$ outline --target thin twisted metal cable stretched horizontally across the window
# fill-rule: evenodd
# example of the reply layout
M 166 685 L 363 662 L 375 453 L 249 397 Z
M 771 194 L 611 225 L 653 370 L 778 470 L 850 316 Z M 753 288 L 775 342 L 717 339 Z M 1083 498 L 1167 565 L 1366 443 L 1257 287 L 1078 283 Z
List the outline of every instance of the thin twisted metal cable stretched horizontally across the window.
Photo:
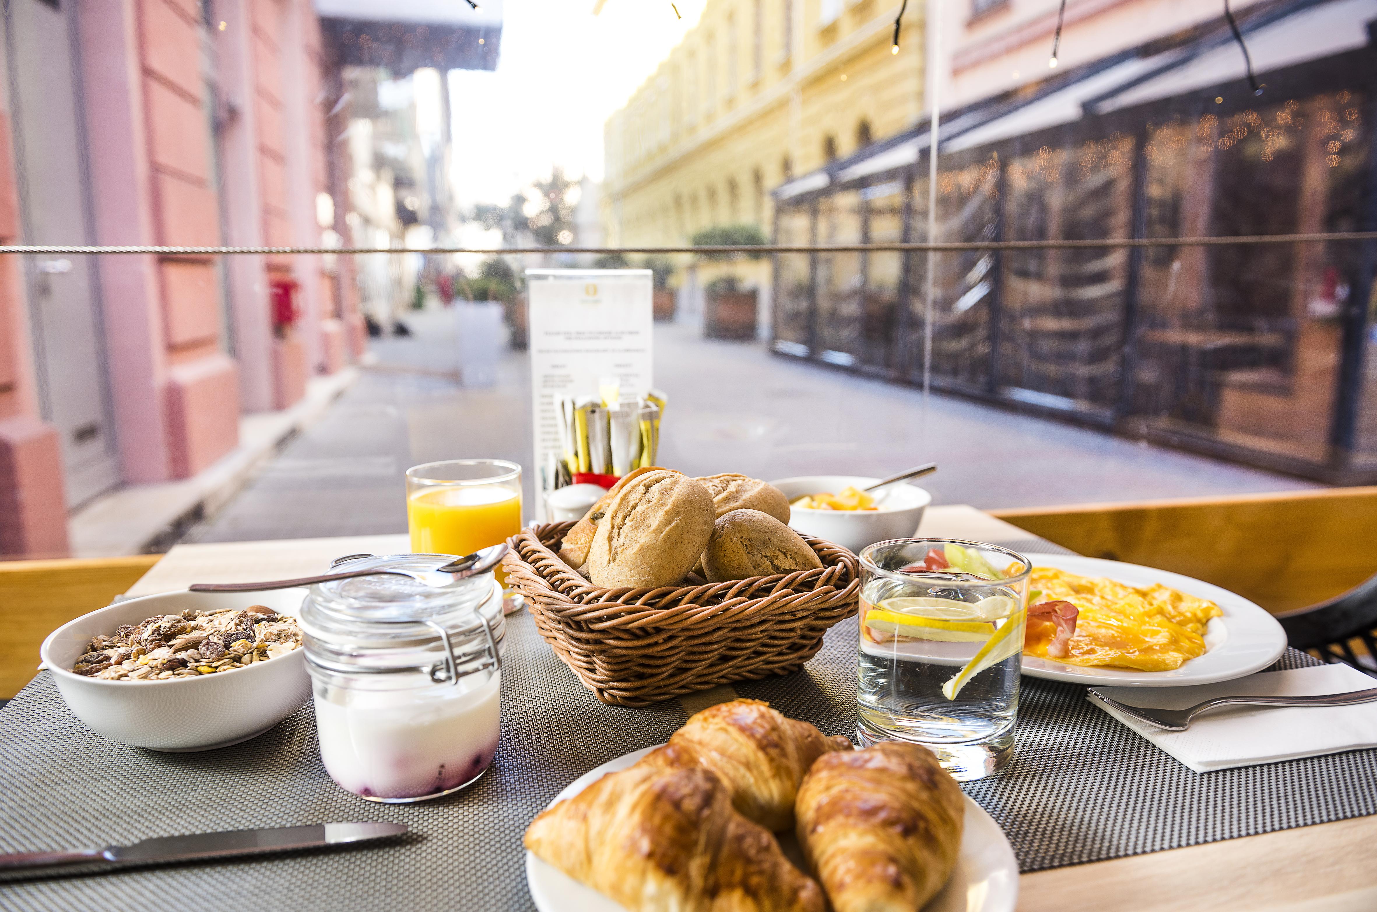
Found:
M 950 241 L 940 243 L 759 243 L 738 246 L 625 246 L 625 248 L 190 248 L 190 246 L 102 246 L 102 245 L 0 245 L 0 253 L 22 253 L 30 256 L 105 256 L 105 254 L 153 254 L 153 256 L 282 256 L 347 253 L 355 256 L 377 253 L 476 253 L 479 256 L 508 256 L 518 253 L 697 253 L 701 256 L 722 254 L 767 254 L 767 253 L 869 253 L 884 250 L 932 250 L 935 253 L 956 253 L 961 250 L 1078 250 L 1117 248 L 1191 248 L 1228 246 L 1253 243 L 1316 243 L 1333 241 L 1377 241 L 1377 231 L 1332 231 L 1312 234 L 1250 234 L 1237 237 L 1199 238 L 1120 238 L 1092 241 Z

